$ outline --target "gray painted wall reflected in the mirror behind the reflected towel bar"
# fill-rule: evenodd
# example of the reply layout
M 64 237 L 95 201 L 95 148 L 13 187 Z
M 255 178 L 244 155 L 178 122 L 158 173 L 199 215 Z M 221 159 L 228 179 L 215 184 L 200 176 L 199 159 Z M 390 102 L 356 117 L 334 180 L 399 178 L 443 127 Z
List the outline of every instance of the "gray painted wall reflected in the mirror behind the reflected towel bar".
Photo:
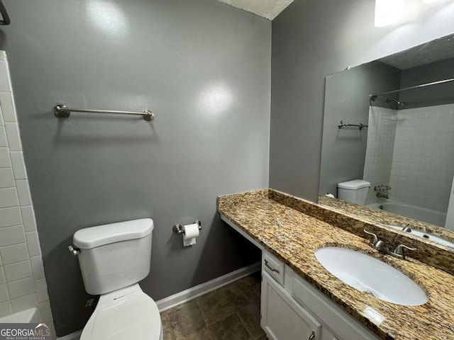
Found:
M 337 183 L 362 179 L 367 128 L 338 128 L 338 123 L 367 125 L 370 94 L 399 89 L 401 72 L 382 62 L 368 62 L 326 77 L 320 191 L 337 197 Z M 378 106 L 388 107 L 377 98 Z

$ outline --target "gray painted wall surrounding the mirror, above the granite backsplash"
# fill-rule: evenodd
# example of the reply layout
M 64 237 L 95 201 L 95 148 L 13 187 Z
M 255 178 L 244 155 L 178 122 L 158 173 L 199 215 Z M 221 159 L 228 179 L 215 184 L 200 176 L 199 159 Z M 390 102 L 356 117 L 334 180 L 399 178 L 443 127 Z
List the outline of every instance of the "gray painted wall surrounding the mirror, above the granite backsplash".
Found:
M 295 0 L 275 18 L 270 187 L 316 201 L 328 74 L 454 32 L 452 2 L 406 6 L 411 17 L 384 28 L 374 26 L 374 0 Z

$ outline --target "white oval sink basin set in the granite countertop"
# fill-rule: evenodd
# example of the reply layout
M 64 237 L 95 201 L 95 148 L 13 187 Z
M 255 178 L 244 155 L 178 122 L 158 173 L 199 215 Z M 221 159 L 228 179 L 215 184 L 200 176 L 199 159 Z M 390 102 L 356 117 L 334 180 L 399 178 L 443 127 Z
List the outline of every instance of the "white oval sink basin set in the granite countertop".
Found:
M 317 249 L 315 257 L 339 280 L 381 300 L 405 306 L 423 305 L 428 300 L 404 273 L 359 251 L 326 246 Z

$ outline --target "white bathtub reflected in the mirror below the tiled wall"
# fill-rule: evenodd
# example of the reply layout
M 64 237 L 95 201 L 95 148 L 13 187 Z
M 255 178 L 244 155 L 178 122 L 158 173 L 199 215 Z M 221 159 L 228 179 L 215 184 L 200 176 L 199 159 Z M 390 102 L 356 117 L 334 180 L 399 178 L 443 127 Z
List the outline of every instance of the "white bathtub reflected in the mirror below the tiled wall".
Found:
M 367 205 L 367 207 L 373 209 L 381 209 L 396 215 L 410 217 L 414 220 L 428 222 L 440 227 L 444 227 L 446 221 L 445 212 L 421 208 L 416 205 L 387 201 L 384 203 L 372 203 L 370 205 Z

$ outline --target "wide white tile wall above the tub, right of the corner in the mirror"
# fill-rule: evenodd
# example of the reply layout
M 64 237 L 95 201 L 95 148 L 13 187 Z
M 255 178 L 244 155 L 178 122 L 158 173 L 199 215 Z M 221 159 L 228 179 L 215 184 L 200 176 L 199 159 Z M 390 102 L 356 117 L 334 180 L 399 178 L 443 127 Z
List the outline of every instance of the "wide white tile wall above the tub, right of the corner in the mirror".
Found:
M 397 117 L 393 198 L 445 212 L 454 174 L 454 104 L 401 110 Z

